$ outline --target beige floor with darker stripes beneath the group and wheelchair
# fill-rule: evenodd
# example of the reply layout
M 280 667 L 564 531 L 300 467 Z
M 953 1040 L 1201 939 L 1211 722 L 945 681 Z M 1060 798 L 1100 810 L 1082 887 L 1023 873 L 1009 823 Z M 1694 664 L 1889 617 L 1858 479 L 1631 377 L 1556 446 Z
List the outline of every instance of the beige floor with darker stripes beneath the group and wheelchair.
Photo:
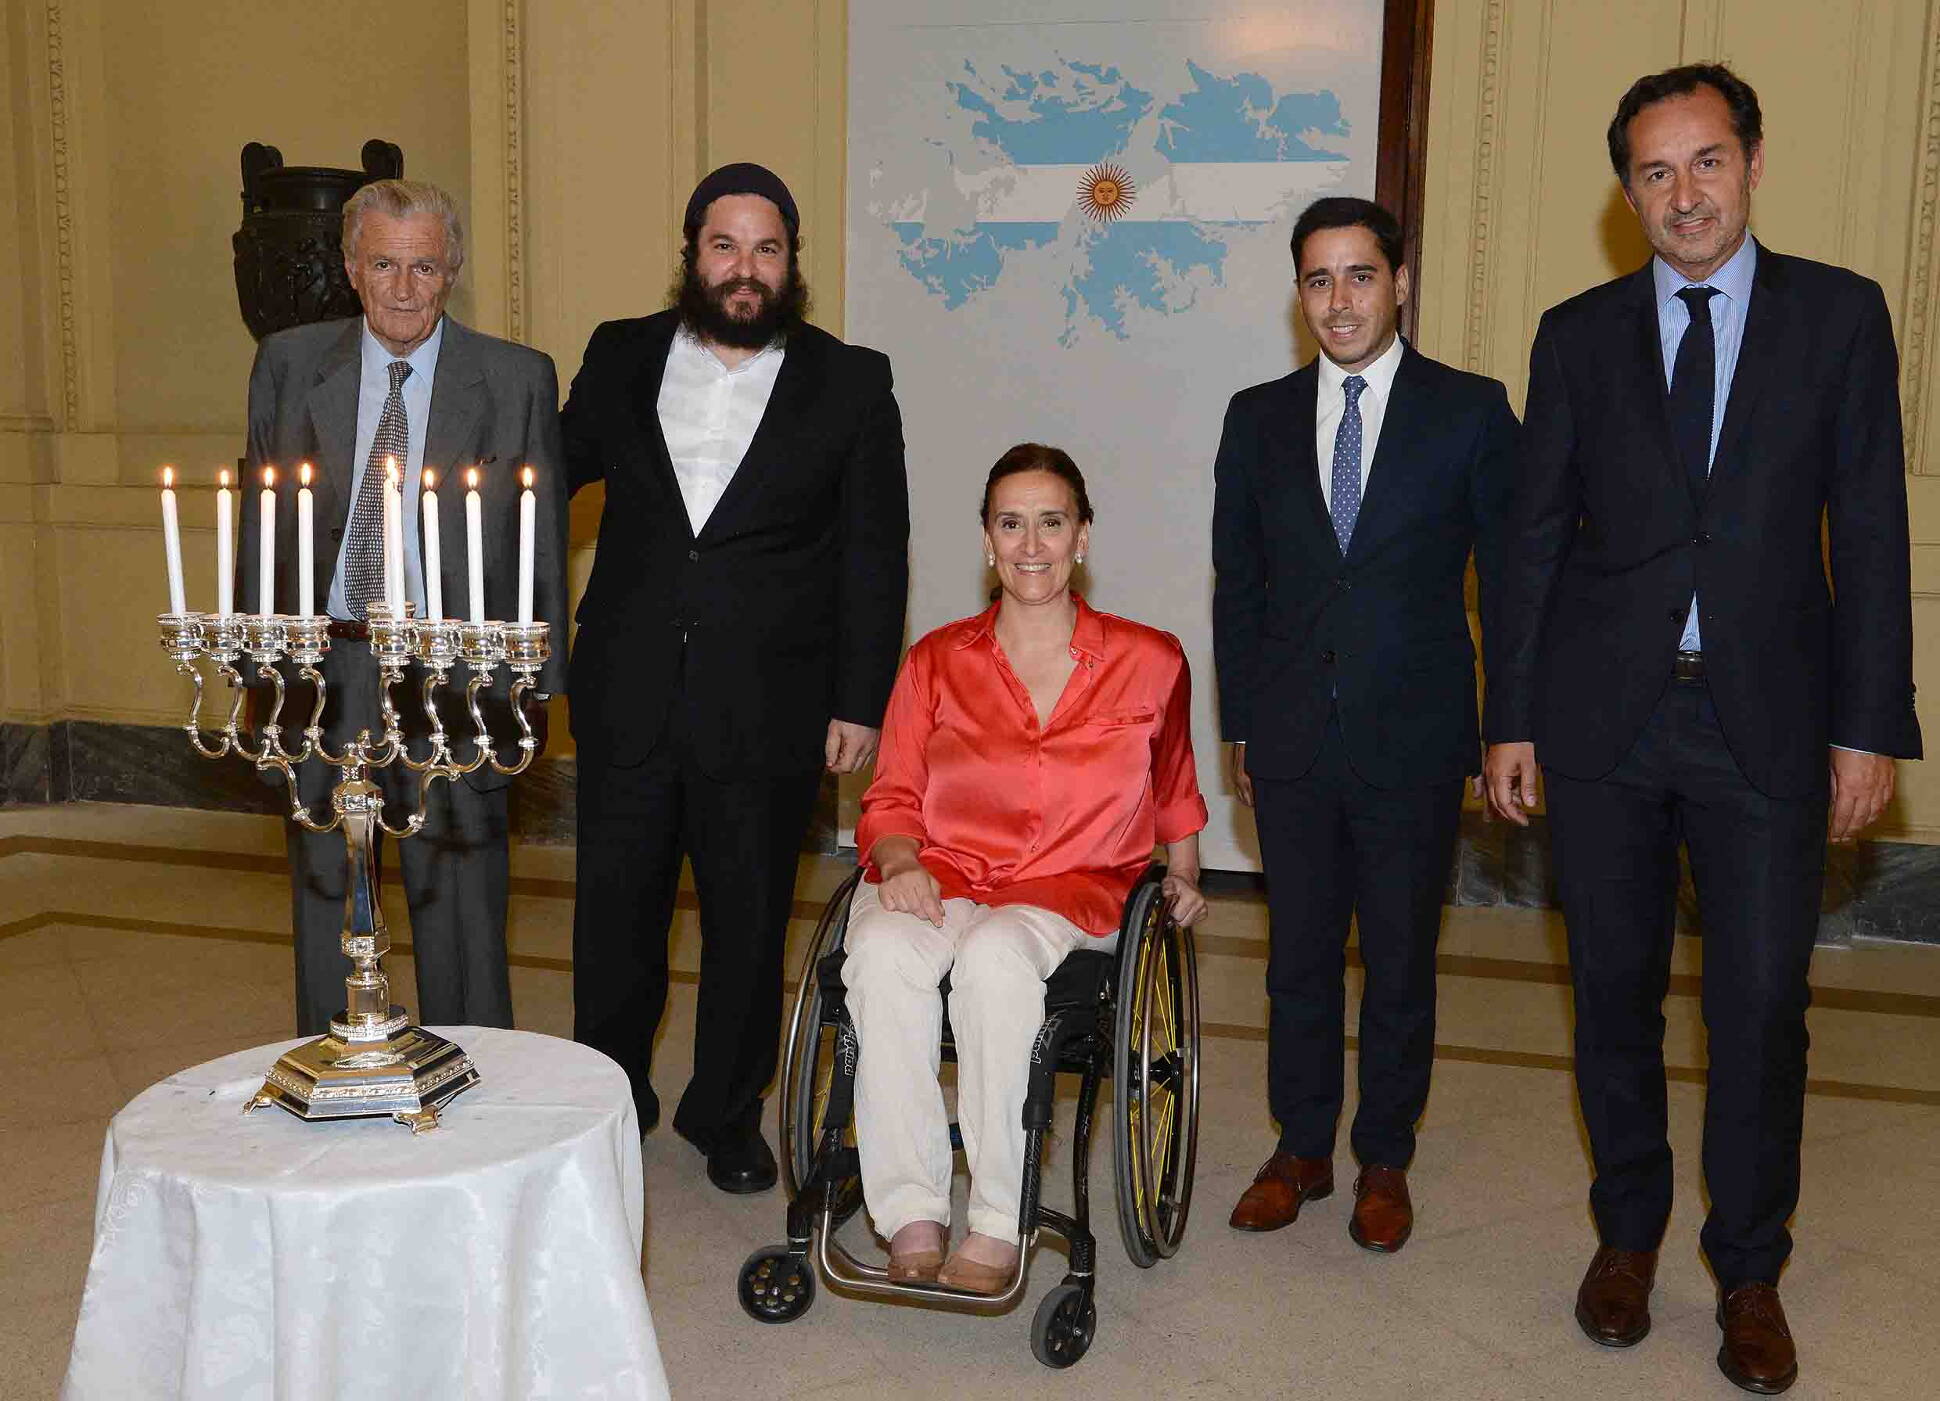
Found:
M 140 807 L 0 813 L 0 1393 L 48 1397 L 87 1267 L 107 1120 L 169 1071 L 289 1032 L 283 838 L 254 817 Z M 512 906 L 520 1025 L 568 1034 L 570 852 L 520 850 Z M 809 860 L 799 896 L 842 875 Z M 394 891 L 394 887 L 392 887 Z M 407 939 L 402 898 L 388 910 Z M 805 924 L 797 922 L 797 933 Z M 1684 974 L 1698 970 L 1682 941 Z M 677 1397 L 1732 1397 L 1715 1366 L 1698 1257 L 1701 1089 L 1672 1085 L 1678 1205 L 1641 1347 L 1604 1352 L 1569 1320 L 1591 1250 L 1585 1157 L 1568 1073 L 1569 1003 L 1552 916 L 1455 910 L 1443 937 L 1439 1059 L 1412 1174 L 1418 1226 L 1377 1257 L 1346 1238 L 1346 1193 L 1290 1230 L 1242 1236 L 1226 1211 L 1271 1147 L 1261 1102 L 1265 918 L 1218 900 L 1201 945 L 1205 1116 L 1181 1254 L 1133 1269 L 1100 1189 L 1098 1341 L 1067 1374 L 1030 1358 L 1040 1257 L 1003 1318 L 823 1292 L 788 1327 L 733 1304 L 735 1265 L 778 1240 L 782 1201 L 724 1197 L 667 1131 L 646 1141 L 646 1281 Z M 695 966 L 691 910 L 675 962 Z M 409 1001 L 411 962 L 392 961 Z M 1798 1254 L 1785 1300 L 1798 1397 L 1917 1397 L 1940 1370 L 1940 949 L 1826 949 L 1814 966 Z M 1352 988 L 1350 988 L 1352 995 Z M 1668 1058 L 1703 1063 L 1696 997 L 1666 1005 Z M 693 986 L 675 990 L 662 1083 L 685 1077 Z M 1352 1073 L 1352 1067 L 1350 1067 Z M 770 1125 L 772 1131 L 772 1125 Z M 1051 1201 L 1069 1191 L 1053 1145 Z M 1350 1162 L 1342 1151 L 1341 1172 Z M 856 1232 L 856 1226 L 850 1228 Z

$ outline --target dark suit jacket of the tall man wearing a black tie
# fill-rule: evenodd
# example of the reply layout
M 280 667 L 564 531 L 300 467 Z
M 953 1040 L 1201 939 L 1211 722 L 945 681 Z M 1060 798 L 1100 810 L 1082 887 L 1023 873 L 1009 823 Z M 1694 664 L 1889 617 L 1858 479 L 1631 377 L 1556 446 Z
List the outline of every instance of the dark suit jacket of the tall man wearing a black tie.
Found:
M 1827 743 L 1917 759 L 1899 363 L 1878 283 L 1758 250 L 1701 491 L 1670 437 L 1651 268 L 1544 312 L 1504 574 L 1488 737 L 1533 739 L 1546 768 L 1600 778 L 1630 751 L 1692 590 L 1719 724 L 1760 792 L 1824 790 Z

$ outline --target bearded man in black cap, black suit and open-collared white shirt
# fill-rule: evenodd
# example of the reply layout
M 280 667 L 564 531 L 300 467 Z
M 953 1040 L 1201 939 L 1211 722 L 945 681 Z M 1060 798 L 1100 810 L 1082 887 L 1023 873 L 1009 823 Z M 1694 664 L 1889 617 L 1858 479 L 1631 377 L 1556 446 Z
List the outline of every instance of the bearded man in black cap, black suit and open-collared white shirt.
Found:
M 572 656 L 574 1036 L 627 1067 L 652 1127 L 689 858 L 700 997 L 673 1127 L 718 1188 L 762 1191 L 797 852 L 823 768 L 875 755 L 910 508 L 889 361 L 803 320 L 788 186 L 714 171 L 683 235 L 673 305 L 599 326 L 565 409 L 572 487 L 605 483 Z

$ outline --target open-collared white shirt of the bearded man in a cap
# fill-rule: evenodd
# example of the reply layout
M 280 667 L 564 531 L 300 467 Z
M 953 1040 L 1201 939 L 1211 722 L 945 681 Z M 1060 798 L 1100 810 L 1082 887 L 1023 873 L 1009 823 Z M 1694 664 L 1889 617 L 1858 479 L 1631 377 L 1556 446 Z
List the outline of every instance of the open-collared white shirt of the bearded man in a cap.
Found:
M 782 355 L 782 343 L 774 342 L 729 369 L 685 326 L 673 336 L 656 409 L 696 536 L 755 440 Z

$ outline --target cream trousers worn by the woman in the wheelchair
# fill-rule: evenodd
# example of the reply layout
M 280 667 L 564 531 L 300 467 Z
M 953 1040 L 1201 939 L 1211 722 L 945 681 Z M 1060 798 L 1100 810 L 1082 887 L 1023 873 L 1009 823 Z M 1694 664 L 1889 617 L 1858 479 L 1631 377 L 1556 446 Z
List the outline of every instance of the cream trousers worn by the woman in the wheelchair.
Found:
M 1030 1044 L 1044 1023 L 1044 980 L 1094 941 L 1061 914 L 1030 904 L 945 900 L 943 928 L 885 910 L 856 887 L 842 982 L 861 1042 L 856 1147 L 861 1191 L 883 1236 L 912 1221 L 951 1219 L 951 1125 L 937 1073 L 951 974 L 956 1034 L 956 1125 L 970 1164 L 970 1230 L 1018 1238 L 1024 1186 L 1024 1092 Z

